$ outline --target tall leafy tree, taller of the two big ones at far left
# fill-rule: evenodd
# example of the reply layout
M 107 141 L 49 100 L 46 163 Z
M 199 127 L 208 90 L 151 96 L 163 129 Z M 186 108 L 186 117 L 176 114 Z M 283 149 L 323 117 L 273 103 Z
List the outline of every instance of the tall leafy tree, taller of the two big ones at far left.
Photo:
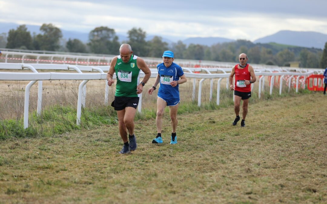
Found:
M 60 48 L 61 30 L 53 24 L 43 24 L 41 33 L 34 37 L 34 46 L 37 50 L 56 51 Z

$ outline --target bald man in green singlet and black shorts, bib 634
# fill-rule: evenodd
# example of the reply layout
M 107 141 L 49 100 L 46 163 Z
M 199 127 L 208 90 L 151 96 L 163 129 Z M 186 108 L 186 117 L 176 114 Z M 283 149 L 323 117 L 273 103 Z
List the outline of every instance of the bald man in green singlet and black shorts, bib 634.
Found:
M 119 53 L 120 55 L 113 57 L 110 63 L 107 79 L 108 85 L 111 86 L 114 82 L 113 74 L 116 74 L 115 100 L 111 105 L 117 111 L 119 133 L 124 142 L 119 153 L 126 154 L 137 147 L 134 135 L 134 116 L 139 103 L 137 94 L 142 93 L 143 86 L 151 76 L 151 71 L 142 58 L 133 55 L 129 44 L 122 44 Z M 140 69 L 145 76 L 139 83 Z M 127 138 L 127 131 L 129 138 Z

